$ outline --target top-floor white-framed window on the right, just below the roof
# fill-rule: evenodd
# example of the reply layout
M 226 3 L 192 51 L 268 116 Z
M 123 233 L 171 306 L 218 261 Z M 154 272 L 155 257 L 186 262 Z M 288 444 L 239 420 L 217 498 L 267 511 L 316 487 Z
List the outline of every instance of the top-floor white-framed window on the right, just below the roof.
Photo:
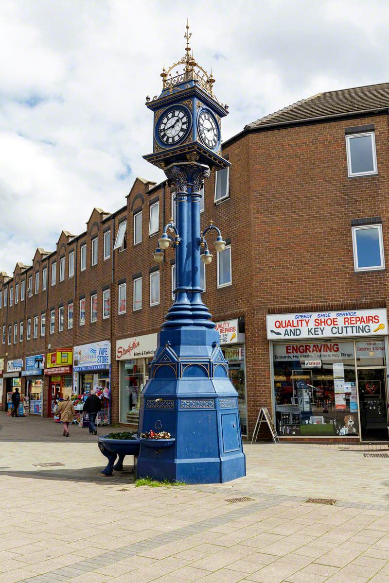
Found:
M 374 132 L 346 135 L 346 153 L 349 177 L 377 174 Z

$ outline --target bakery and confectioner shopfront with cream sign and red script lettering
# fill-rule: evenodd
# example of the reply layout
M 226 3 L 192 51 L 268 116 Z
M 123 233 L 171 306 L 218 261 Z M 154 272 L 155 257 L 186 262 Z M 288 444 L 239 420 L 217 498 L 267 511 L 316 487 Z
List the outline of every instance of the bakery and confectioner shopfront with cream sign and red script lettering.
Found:
M 116 360 L 120 361 L 120 423 L 138 423 L 141 393 L 149 378 L 149 362 L 156 347 L 156 334 L 116 342 Z

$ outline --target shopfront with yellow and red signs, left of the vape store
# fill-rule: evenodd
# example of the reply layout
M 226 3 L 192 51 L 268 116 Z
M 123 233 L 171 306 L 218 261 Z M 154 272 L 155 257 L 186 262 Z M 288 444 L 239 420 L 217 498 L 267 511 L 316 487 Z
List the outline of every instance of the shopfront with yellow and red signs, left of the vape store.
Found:
M 47 353 L 44 374 L 48 376 L 48 411 L 54 417 L 60 398 L 72 394 L 73 349 L 57 348 Z

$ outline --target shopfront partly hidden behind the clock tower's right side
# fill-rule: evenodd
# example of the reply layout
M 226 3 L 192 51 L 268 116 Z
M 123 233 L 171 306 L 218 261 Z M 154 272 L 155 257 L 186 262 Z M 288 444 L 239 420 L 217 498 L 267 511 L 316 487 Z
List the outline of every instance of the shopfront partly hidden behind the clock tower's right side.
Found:
M 247 435 L 247 401 L 246 401 L 246 350 L 244 345 L 244 319 L 231 319 L 216 322 L 220 335 L 220 347 L 228 360 L 229 377 L 238 393 L 240 429 Z

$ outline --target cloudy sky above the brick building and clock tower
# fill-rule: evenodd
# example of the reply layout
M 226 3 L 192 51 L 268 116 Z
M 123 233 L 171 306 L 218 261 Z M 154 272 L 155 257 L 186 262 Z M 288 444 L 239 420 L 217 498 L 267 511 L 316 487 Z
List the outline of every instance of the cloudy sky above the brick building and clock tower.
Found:
M 2 0 L 0 271 L 78 234 L 94 206 L 162 180 L 147 94 L 163 61 L 197 61 L 228 103 L 224 139 L 315 93 L 389 81 L 386 0 Z

